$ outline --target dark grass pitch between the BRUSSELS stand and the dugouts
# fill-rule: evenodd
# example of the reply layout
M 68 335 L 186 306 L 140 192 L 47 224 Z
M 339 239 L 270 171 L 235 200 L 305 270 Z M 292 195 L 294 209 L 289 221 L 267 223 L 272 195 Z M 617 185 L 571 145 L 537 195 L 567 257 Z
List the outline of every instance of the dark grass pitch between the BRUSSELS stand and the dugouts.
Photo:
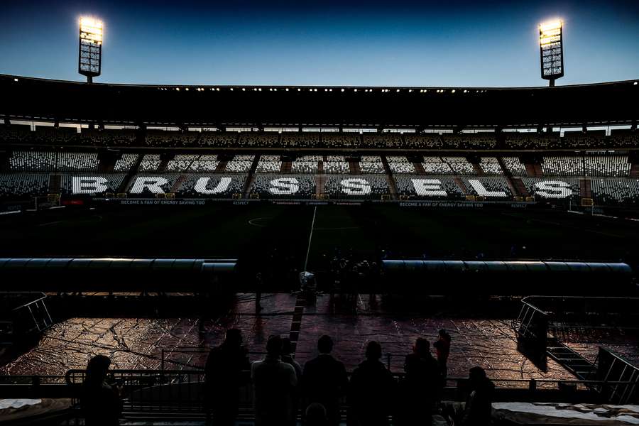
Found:
M 304 263 L 315 207 L 120 206 L 0 218 L 0 256 L 239 257 Z M 310 268 L 337 249 L 388 257 L 583 258 L 633 261 L 639 223 L 538 210 L 319 206 Z M 524 249 L 525 247 L 525 249 Z

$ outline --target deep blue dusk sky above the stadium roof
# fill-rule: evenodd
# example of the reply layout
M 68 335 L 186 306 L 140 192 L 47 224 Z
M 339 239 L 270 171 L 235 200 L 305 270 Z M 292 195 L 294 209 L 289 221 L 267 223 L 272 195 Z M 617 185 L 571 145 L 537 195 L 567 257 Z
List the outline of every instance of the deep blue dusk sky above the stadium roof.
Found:
M 11 1 L 0 73 L 84 80 L 83 15 L 104 21 L 96 82 L 540 86 L 537 24 L 555 17 L 557 85 L 639 77 L 636 0 Z

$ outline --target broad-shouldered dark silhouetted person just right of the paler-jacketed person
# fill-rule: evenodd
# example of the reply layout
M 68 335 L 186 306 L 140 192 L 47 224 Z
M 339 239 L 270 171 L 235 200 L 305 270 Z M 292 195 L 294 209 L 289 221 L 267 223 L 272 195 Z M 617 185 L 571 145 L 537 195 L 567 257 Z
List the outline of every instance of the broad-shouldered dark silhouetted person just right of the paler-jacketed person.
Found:
M 339 398 L 346 391 L 349 379 L 342 362 L 331 355 L 333 340 L 322 336 L 317 341 L 320 352 L 304 366 L 302 381 L 309 403 L 320 403 L 326 409 L 329 425 L 339 423 Z

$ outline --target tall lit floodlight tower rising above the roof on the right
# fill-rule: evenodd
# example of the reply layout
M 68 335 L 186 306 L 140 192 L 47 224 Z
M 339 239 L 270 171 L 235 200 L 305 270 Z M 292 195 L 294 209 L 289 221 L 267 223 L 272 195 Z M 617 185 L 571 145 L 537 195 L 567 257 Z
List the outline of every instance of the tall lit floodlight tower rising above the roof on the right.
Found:
M 563 21 L 555 19 L 539 26 L 541 76 L 555 86 L 555 80 L 564 76 Z

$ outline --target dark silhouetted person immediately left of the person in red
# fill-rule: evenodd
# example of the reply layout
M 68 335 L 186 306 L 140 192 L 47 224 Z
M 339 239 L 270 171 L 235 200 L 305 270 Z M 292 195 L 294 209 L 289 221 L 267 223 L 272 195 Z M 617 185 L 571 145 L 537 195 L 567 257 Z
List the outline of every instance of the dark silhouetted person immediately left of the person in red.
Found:
M 442 371 L 430 354 L 430 342 L 417 338 L 413 354 L 406 356 L 398 416 L 401 425 L 430 425 L 432 411 L 442 390 Z

